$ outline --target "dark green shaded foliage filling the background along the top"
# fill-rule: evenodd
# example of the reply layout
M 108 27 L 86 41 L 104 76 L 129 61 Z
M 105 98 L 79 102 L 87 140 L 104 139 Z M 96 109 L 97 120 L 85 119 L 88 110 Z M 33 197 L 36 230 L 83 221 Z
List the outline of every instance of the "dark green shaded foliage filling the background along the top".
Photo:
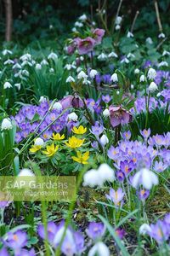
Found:
M 99 3 L 102 5 L 104 2 L 106 3 L 108 26 L 110 26 L 111 20 L 116 15 L 119 0 L 12 0 L 14 16 L 13 40 L 16 42 L 20 41 L 20 44 L 28 44 L 35 39 L 55 39 L 58 40 L 58 42 L 62 41 L 63 38 L 65 39 L 68 36 L 68 32 L 71 32 L 71 27 L 74 26 L 74 22 L 78 16 L 83 13 L 92 15 L 92 7 L 92 16 L 94 20 L 98 20 L 96 9 L 98 9 Z M 163 30 L 167 32 L 170 20 L 170 1 L 160 0 L 158 4 Z M 150 35 L 152 32 L 158 31 L 154 0 L 124 0 L 122 2 L 120 15 L 123 15 L 126 22 L 124 21 L 123 23 L 122 32 L 126 32 L 129 29 L 137 10 L 140 12 L 139 18 L 135 24 L 137 36 L 143 38 L 146 28 L 147 32 L 150 32 Z M 0 0 L 1 40 L 4 40 L 4 32 L 5 9 L 3 0 Z

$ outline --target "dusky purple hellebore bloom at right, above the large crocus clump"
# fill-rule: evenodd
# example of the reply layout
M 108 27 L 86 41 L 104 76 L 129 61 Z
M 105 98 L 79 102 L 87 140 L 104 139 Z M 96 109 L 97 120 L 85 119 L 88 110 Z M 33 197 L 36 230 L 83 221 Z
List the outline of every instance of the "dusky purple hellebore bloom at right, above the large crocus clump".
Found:
M 109 107 L 111 125 L 116 127 L 117 125 L 125 125 L 132 121 L 132 115 L 122 107 Z

